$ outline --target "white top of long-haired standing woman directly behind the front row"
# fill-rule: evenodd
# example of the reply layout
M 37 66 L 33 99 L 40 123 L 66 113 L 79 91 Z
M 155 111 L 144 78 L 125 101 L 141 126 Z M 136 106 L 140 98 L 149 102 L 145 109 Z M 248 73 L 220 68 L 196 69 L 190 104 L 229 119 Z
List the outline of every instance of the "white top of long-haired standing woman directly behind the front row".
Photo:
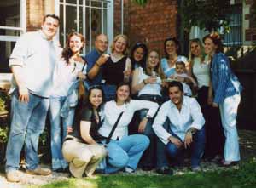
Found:
M 139 83 L 143 82 L 144 79 L 147 79 L 147 74 L 144 73 L 143 68 L 139 67 Z M 155 72 L 154 72 L 155 74 Z M 160 77 L 156 77 L 156 83 L 147 83 L 139 92 L 138 96 L 141 94 L 152 94 L 152 95 L 160 95 L 161 96 L 161 79 Z

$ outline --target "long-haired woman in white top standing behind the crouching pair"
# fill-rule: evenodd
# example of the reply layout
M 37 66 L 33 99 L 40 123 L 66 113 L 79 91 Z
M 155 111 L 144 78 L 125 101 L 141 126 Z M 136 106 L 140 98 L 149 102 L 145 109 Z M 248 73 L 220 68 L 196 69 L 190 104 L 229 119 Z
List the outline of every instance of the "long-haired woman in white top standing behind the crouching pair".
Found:
M 164 78 L 162 68 L 160 66 L 160 56 L 156 51 L 148 54 L 146 67 L 138 67 L 132 77 L 131 93 L 138 95 L 138 100 L 149 100 L 159 105 L 162 103 L 161 96 L 161 79 Z M 148 110 L 142 110 L 139 113 L 140 120 L 146 117 Z M 143 170 L 151 170 L 155 165 L 156 157 L 156 137 L 152 129 L 154 119 L 148 120 L 145 128 L 139 128 L 138 132 L 148 136 L 150 145 L 143 154 L 142 168 Z

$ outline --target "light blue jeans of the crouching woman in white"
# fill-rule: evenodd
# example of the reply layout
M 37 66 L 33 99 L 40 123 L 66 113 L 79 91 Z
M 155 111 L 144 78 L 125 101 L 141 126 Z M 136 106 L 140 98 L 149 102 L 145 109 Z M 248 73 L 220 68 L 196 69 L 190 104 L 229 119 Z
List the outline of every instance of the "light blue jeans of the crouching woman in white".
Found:
M 108 160 L 104 173 L 112 174 L 125 167 L 135 170 L 148 145 L 148 137 L 142 134 L 125 136 L 121 140 L 111 140 L 107 146 Z

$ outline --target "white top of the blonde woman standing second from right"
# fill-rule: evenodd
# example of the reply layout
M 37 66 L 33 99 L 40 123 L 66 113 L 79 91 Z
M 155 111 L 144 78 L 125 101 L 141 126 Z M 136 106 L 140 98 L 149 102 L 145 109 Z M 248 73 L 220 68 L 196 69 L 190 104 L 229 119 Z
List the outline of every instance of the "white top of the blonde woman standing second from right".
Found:
M 210 83 L 210 65 L 207 62 L 201 62 L 200 58 L 194 59 L 192 68 L 193 74 L 196 77 L 198 87 L 209 86 Z

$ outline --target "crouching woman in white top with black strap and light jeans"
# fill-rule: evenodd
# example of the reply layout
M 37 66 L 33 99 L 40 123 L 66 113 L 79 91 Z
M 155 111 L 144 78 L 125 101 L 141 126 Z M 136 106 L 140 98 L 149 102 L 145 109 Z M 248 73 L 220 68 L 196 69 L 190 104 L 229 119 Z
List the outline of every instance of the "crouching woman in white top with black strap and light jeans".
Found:
M 119 83 L 115 100 L 108 101 L 104 106 L 104 122 L 98 131 L 102 137 L 108 138 L 113 125 L 123 112 L 107 146 L 108 161 L 105 174 L 117 172 L 122 168 L 128 173 L 136 170 L 143 151 L 148 148 L 149 140 L 143 134 L 128 135 L 128 125 L 135 111 L 148 109 L 147 116 L 139 125 L 140 129 L 145 128 L 148 118 L 154 117 L 158 107 L 159 105 L 151 101 L 131 100 L 129 83 Z

